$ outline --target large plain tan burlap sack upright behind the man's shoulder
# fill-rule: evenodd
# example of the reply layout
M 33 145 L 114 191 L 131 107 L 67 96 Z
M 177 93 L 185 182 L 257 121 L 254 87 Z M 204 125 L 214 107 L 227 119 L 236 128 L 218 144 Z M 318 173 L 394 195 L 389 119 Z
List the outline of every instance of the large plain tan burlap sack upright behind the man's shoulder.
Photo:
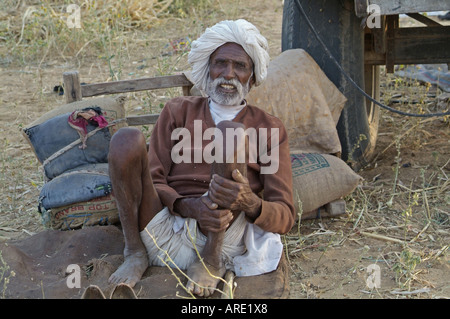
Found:
M 274 58 L 267 79 L 250 90 L 247 102 L 284 123 L 291 151 L 341 152 L 336 124 L 346 98 L 304 50 Z

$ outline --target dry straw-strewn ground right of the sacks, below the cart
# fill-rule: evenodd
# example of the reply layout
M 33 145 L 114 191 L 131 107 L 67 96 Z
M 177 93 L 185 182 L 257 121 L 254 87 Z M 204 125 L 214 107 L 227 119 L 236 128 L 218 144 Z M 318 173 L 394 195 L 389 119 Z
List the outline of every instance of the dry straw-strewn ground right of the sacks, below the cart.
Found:
M 408 112 L 434 110 L 435 97 L 442 93 L 392 74 L 383 74 L 383 79 L 385 103 Z M 393 102 L 400 94 L 406 96 L 404 103 Z M 375 159 L 360 172 L 363 184 L 346 198 L 348 216 L 302 222 L 286 236 L 287 255 L 300 260 L 293 272 L 303 279 L 302 297 L 336 297 L 311 283 L 321 282 L 320 269 L 329 264 L 326 259 L 345 259 L 348 254 L 354 264 L 346 265 L 351 267 L 338 276 L 334 288 L 344 289 L 352 298 L 357 292 L 358 298 L 449 297 L 448 118 L 408 118 L 382 111 L 380 124 Z M 361 284 L 371 263 L 380 265 L 390 279 L 383 279 L 381 289 Z M 351 288 L 353 283 L 356 287 Z

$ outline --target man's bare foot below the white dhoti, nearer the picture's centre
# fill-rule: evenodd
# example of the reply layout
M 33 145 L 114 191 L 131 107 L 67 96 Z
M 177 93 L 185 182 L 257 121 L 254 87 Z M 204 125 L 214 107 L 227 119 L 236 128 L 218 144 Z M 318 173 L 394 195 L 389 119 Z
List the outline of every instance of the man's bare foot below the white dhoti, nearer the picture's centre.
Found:
M 205 269 L 205 265 L 208 267 L 209 272 Z M 198 260 L 194 262 L 187 271 L 187 275 L 191 280 L 188 282 L 186 288 L 200 297 L 211 296 L 214 293 L 220 278 L 222 278 L 226 272 L 225 266 L 216 268 L 206 262 L 205 265 Z

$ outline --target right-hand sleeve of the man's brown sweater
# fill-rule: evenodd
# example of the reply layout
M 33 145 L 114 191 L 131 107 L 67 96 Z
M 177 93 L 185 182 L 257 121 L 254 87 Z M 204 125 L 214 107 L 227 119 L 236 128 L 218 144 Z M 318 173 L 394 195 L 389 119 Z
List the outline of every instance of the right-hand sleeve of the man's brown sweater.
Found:
M 272 144 L 272 140 L 271 137 L 268 137 L 267 149 L 272 157 L 270 164 L 275 165 L 275 167 L 268 169 L 267 164 L 261 164 L 261 172 L 264 173 L 263 169 L 265 168 L 268 173 L 260 175 L 264 187 L 263 202 L 261 214 L 254 223 L 265 231 L 285 234 L 294 225 L 295 210 L 293 205 L 289 142 L 286 129 L 281 123 L 279 125 L 278 139 L 274 139 L 275 142 L 279 141 L 279 143 Z M 278 147 L 278 158 L 276 156 L 276 147 Z M 274 164 L 277 160 L 278 167 Z M 277 169 L 275 170 L 275 168 Z

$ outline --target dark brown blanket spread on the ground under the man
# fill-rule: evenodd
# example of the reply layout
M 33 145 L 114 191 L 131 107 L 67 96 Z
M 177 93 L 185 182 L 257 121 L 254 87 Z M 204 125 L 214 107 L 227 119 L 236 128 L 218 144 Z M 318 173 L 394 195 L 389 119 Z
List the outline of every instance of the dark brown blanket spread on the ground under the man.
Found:
M 114 286 L 108 284 L 108 278 L 123 262 L 123 247 L 123 234 L 116 226 L 93 226 L 73 231 L 45 230 L 26 239 L 2 243 L 2 293 L 5 298 L 78 299 L 86 287 L 97 285 L 109 296 Z M 69 277 L 74 274 L 68 269 L 69 265 L 80 267 L 80 288 L 68 287 L 68 281 L 73 283 Z M 286 298 L 289 293 L 287 274 L 286 262 L 282 258 L 278 269 L 272 273 L 237 277 L 234 297 Z M 138 298 L 187 296 L 178 279 L 182 284 L 187 282 L 179 272 L 173 274 L 165 267 L 150 267 L 134 291 Z M 215 293 L 213 297 L 221 296 L 221 293 Z

